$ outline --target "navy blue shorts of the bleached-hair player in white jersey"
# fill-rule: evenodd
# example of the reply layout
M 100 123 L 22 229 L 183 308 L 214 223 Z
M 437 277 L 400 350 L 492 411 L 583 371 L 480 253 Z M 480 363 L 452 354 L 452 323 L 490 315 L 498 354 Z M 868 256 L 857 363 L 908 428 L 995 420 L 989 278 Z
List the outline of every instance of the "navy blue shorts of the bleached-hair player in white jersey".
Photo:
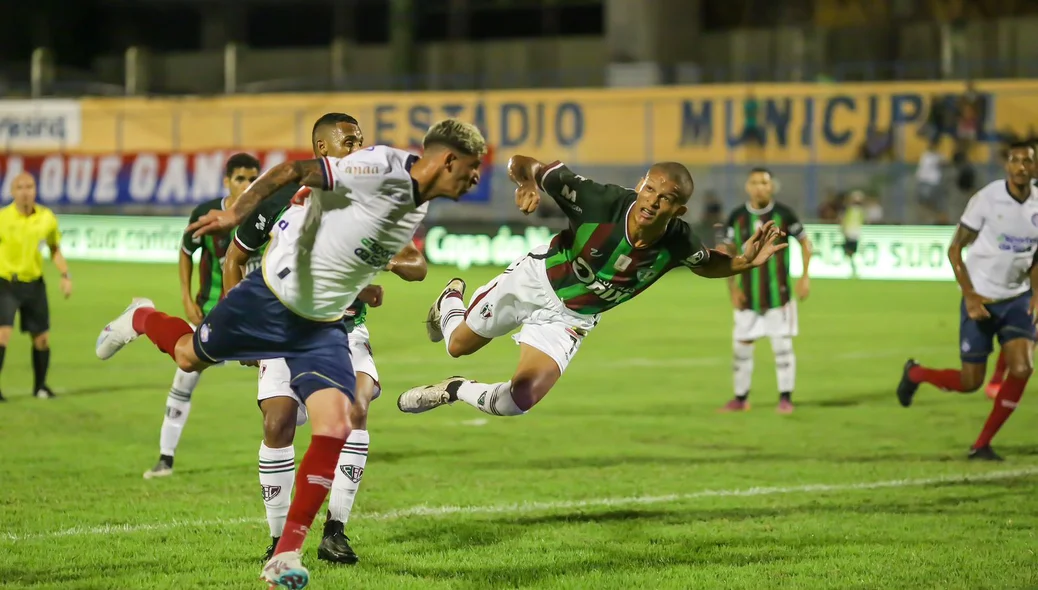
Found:
M 308 320 L 285 307 L 262 272 L 252 272 L 206 316 L 194 333 L 206 363 L 284 358 L 300 400 L 335 387 L 353 400 L 356 376 L 342 321 Z

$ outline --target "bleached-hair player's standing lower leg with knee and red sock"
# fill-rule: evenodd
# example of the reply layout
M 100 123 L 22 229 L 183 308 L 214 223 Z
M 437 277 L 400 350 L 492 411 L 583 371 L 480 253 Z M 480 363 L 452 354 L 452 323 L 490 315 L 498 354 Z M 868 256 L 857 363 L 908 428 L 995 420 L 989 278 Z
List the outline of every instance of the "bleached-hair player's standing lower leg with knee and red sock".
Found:
M 338 390 L 325 388 L 306 400 L 312 437 L 296 473 L 296 495 L 275 555 L 299 552 L 321 505 L 328 497 L 338 454 L 350 434 L 349 404 Z

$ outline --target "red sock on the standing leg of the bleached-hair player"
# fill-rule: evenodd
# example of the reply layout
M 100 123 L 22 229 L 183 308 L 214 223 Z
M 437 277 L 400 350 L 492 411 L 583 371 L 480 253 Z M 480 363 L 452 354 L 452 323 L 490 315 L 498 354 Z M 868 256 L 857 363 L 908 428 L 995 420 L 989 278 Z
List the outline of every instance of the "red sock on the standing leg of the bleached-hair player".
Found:
M 289 516 L 277 543 L 275 554 L 298 552 L 303 548 L 306 532 L 309 531 L 313 518 L 317 517 L 321 505 L 331 489 L 331 480 L 335 477 L 335 465 L 338 464 L 338 454 L 346 440 L 334 436 L 313 436 L 310 448 L 303 455 L 296 472 L 296 494 L 289 506 Z

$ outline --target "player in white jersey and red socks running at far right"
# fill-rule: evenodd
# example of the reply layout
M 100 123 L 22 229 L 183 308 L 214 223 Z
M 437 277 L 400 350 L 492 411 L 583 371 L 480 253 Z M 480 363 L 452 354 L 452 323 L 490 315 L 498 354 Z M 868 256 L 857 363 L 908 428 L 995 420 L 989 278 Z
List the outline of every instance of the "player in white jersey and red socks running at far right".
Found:
M 962 368 L 930 369 L 909 358 L 898 384 L 898 401 L 908 407 L 920 383 L 947 392 L 975 392 L 984 383 L 987 357 L 999 338 L 1008 375 L 976 442 L 971 459 L 1000 461 L 991 439 L 1019 403 L 1031 378 L 1038 296 L 1038 187 L 1031 184 L 1035 148 L 1010 145 L 1006 179 L 980 189 L 966 205 L 948 248 L 962 290 L 959 350 Z M 969 256 L 962 261 L 962 250 Z

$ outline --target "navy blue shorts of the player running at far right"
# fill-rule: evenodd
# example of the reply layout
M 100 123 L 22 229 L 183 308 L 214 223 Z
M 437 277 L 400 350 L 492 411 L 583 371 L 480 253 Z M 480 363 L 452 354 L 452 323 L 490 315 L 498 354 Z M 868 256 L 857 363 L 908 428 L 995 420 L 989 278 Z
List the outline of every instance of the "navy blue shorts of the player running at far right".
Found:
M 986 363 L 994 350 L 994 337 L 999 337 L 1000 346 L 1018 338 L 1035 340 L 1030 291 L 986 306 L 991 317 L 978 322 L 966 314 L 965 299 L 959 305 L 959 356 L 963 363 Z

